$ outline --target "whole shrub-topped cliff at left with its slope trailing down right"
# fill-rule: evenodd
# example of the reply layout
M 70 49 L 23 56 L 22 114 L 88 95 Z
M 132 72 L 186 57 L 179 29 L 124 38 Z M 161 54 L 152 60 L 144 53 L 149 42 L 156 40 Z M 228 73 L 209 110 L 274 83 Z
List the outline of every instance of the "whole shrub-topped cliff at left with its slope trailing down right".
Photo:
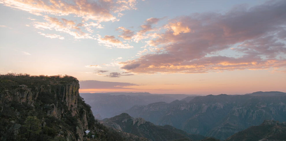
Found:
M 95 121 L 70 76 L 0 75 L 0 140 L 133 140 Z M 84 131 L 90 130 L 89 134 Z

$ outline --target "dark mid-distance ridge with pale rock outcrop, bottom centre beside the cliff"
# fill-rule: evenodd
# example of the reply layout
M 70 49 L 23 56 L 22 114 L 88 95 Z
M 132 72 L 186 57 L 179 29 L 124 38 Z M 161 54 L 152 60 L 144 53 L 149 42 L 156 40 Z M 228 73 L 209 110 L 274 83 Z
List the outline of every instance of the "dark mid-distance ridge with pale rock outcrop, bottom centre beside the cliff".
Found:
M 141 136 L 152 141 L 178 139 L 201 140 L 204 138 L 204 136 L 201 135 L 187 134 L 186 132 L 176 129 L 170 125 L 154 125 L 142 118 L 133 118 L 127 113 L 122 113 L 115 117 L 104 119 L 102 122 L 104 125 L 113 127 L 122 132 Z

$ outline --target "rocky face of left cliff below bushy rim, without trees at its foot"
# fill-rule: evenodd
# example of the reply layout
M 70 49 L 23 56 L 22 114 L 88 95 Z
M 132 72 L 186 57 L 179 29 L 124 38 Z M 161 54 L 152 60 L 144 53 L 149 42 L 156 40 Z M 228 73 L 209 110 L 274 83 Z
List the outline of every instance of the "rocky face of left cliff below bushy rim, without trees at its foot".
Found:
M 11 81 L 0 80 L 1 82 Z M 0 131 L 3 135 L 1 140 L 8 140 L 5 137 L 9 136 L 7 128 L 16 136 L 20 131 L 24 131 L 24 129 L 21 130 L 21 125 L 24 124 L 23 121 L 27 116 L 36 116 L 41 122 L 42 129 L 46 129 L 44 127 L 49 125 L 57 131 L 54 133 L 55 138 L 62 137 L 65 140 L 83 140 L 83 131 L 89 127 L 92 128 L 94 117 L 90 107 L 79 96 L 79 83 L 76 79 L 42 81 L 47 81 L 48 85 L 27 83 L 30 86 L 27 84 L 15 86 L 17 83 L 14 82 L 13 85 L 11 84 L 12 86 L 8 87 L 7 83 L 2 83 L 0 91 L 1 118 L 3 118 L 2 120 L 6 119 L 5 122 L 10 128 L 3 126 L 5 129 Z M 52 119 L 55 120 L 54 122 L 59 122 L 60 125 L 56 126 L 51 121 Z

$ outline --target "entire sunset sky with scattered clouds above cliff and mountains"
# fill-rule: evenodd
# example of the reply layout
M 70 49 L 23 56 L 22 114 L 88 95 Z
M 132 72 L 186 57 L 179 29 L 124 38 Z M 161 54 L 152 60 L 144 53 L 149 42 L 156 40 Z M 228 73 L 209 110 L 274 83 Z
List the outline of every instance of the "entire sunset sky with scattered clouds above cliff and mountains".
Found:
M 0 0 L 0 74 L 79 92 L 286 92 L 284 0 Z

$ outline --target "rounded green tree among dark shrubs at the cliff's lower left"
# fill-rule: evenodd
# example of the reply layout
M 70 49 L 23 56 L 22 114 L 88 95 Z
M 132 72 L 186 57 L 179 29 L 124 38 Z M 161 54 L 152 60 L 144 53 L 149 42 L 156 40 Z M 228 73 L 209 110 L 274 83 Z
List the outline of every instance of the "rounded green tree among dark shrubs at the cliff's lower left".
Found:
M 24 133 L 27 136 L 27 140 L 30 140 L 32 136 L 38 135 L 41 132 L 40 120 L 36 116 L 28 116 L 25 120 L 23 127 L 26 129 Z

